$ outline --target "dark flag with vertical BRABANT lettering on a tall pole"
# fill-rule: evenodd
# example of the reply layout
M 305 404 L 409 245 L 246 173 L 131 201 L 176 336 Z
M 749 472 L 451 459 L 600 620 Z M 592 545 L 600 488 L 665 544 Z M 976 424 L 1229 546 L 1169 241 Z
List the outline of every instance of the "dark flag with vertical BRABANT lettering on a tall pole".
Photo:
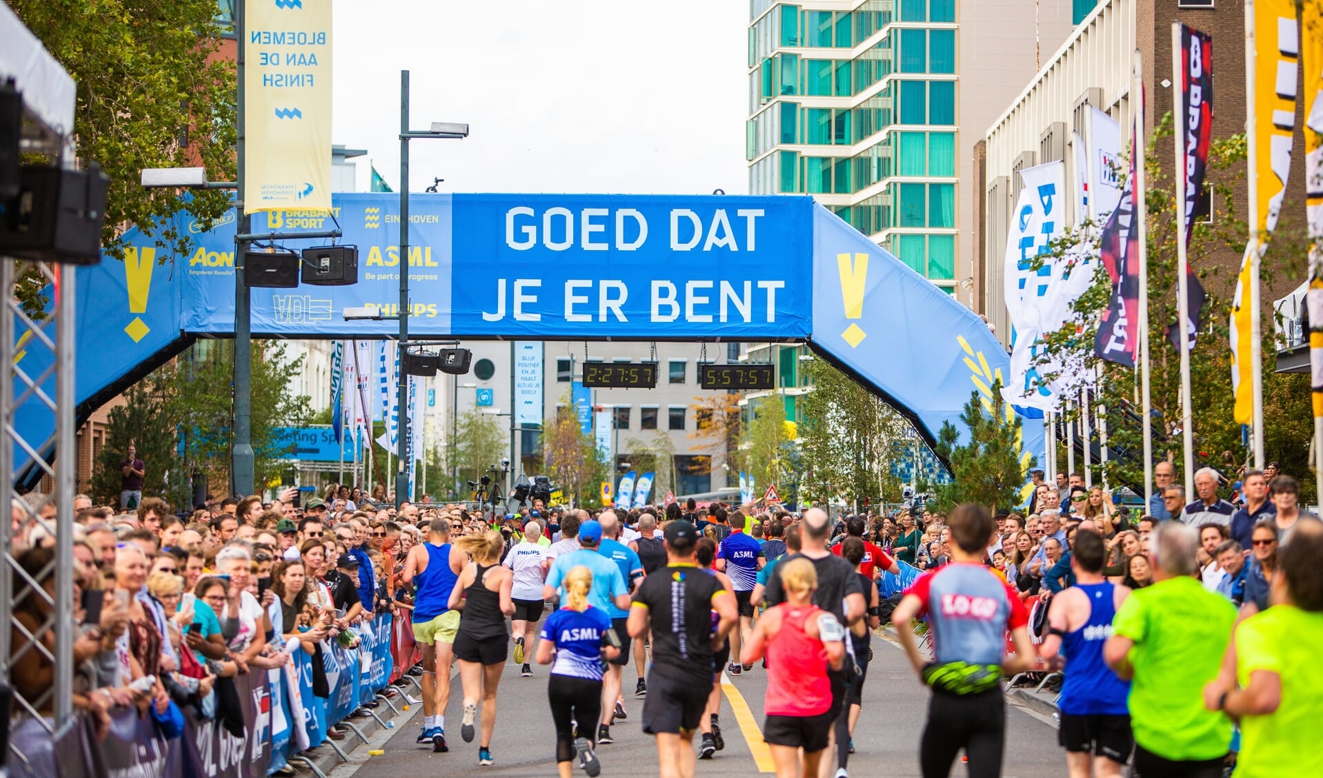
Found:
M 1183 169 L 1177 176 L 1185 177 L 1185 240 L 1195 232 L 1195 222 L 1207 218 L 1212 210 L 1211 194 L 1204 186 L 1208 172 L 1208 149 L 1213 139 L 1213 37 L 1192 26 L 1180 25 L 1180 137 L 1184 139 Z M 1179 293 L 1179 292 L 1177 292 Z M 1185 337 L 1189 347 L 1195 347 L 1199 333 L 1199 314 L 1204 309 L 1204 285 L 1188 264 L 1185 268 L 1185 300 L 1189 320 L 1185 321 Z M 1180 333 L 1168 333 L 1172 345 L 1180 346 Z

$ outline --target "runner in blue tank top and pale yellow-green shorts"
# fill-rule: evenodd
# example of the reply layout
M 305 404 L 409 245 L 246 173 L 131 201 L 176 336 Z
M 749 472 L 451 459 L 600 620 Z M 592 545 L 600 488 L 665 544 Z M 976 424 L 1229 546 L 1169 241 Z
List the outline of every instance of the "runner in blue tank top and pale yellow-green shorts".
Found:
M 422 734 L 433 750 L 446 752 L 446 705 L 450 704 L 450 663 L 454 658 L 459 612 L 447 605 L 464 555 L 450 543 L 450 522 L 433 519 L 427 542 L 414 546 L 405 561 L 404 584 L 413 584 L 414 642 L 422 651 Z M 438 672 L 438 668 L 441 672 Z

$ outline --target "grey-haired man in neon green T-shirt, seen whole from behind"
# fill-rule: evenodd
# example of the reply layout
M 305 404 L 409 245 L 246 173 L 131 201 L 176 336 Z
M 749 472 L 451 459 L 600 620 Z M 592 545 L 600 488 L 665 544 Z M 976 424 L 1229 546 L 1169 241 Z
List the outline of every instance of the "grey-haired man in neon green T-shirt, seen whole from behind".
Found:
M 1236 606 L 1192 577 L 1199 569 L 1193 528 L 1166 522 L 1150 544 L 1160 551 L 1150 555 L 1156 583 L 1126 598 L 1103 647 L 1117 675 L 1134 679 L 1135 771 L 1146 778 L 1212 767 L 1226 756 L 1232 724 L 1204 708 L 1203 690 L 1217 676 L 1236 622 Z

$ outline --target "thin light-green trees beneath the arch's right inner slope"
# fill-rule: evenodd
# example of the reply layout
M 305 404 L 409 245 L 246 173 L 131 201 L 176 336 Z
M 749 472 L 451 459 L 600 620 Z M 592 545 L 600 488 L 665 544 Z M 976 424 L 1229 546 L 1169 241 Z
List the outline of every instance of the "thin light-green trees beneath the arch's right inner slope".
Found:
M 913 440 L 910 425 L 890 406 L 823 359 L 808 363 L 814 391 L 803 395 L 802 490 L 814 502 L 897 502 L 894 469 Z

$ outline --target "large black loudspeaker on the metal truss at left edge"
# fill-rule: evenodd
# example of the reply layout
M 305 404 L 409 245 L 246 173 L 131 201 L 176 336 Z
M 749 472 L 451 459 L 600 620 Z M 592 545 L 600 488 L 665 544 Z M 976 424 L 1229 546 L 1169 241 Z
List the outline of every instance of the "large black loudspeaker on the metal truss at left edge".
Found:
M 110 178 L 87 170 L 26 165 L 19 193 L 0 202 L 0 254 L 42 262 L 97 264 Z

